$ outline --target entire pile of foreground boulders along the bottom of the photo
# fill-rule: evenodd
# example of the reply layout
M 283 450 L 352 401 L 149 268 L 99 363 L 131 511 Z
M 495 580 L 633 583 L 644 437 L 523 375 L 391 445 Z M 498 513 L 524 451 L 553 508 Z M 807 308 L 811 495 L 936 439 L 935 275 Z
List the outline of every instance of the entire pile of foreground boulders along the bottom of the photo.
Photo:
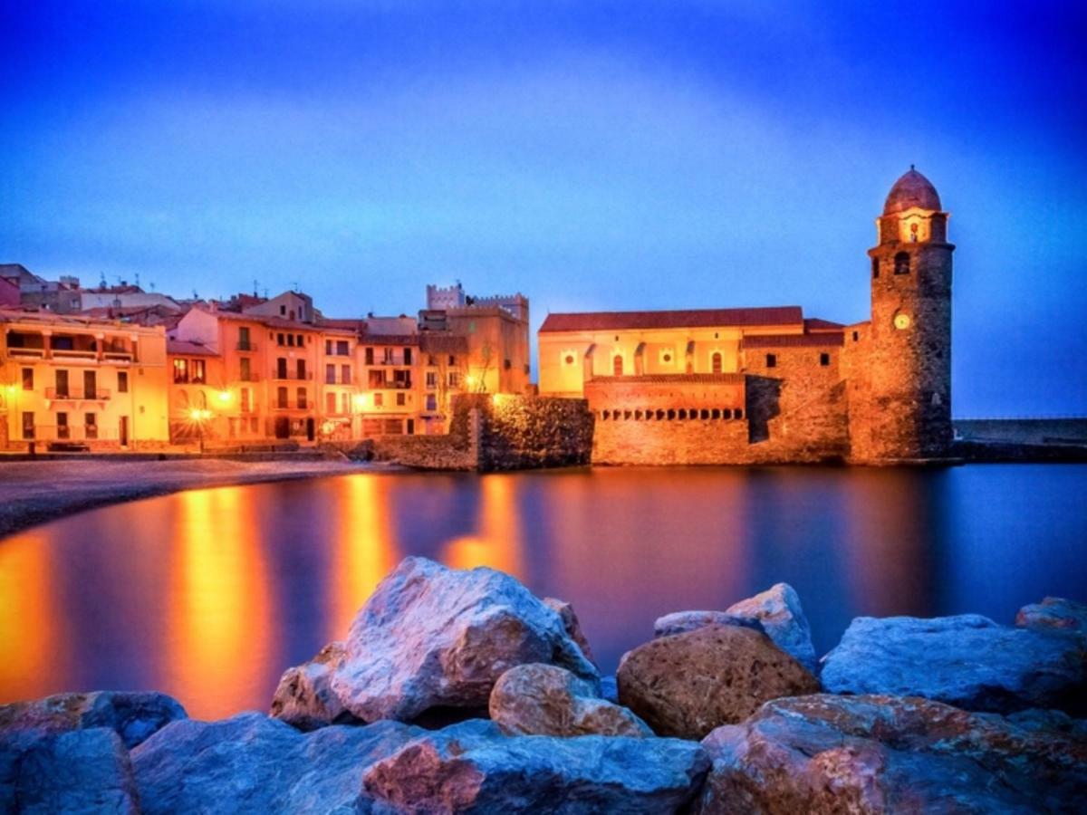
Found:
M 271 715 L 0 707 L 0 811 L 1083 811 L 1087 606 L 859 618 L 817 661 L 785 584 L 654 628 L 601 677 L 569 604 L 409 557 Z

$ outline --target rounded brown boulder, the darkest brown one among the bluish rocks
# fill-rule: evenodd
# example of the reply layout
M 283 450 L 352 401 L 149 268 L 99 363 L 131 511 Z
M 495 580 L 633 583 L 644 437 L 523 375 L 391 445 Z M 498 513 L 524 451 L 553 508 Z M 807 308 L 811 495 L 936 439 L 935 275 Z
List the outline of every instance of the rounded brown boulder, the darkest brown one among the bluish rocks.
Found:
M 651 640 L 623 655 L 620 703 L 660 736 L 701 739 L 771 699 L 814 693 L 819 680 L 751 628 L 709 626 Z

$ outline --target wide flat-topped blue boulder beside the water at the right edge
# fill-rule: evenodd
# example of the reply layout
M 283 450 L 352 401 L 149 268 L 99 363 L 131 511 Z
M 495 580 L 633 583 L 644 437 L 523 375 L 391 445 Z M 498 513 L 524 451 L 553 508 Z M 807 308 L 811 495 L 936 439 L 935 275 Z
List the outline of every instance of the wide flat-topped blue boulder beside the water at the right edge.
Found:
M 977 614 L 858 617 L 823 657 L 832 693 L 934 699 L 970 711 L 1008 713 L 1087 706 L 1087 638 L 1011 628 Z

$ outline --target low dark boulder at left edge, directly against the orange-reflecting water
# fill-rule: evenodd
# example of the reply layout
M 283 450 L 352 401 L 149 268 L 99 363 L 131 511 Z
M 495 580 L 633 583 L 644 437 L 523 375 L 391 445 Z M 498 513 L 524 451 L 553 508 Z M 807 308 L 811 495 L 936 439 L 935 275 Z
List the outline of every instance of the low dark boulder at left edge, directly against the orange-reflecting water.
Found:
M 116 732 L 127 748 L 183 718 L 185 709 L 165 693 L 58 693 L 33 702 L 0 705 L 2 732 L 33 730 L 45 735 L 105 727 Z

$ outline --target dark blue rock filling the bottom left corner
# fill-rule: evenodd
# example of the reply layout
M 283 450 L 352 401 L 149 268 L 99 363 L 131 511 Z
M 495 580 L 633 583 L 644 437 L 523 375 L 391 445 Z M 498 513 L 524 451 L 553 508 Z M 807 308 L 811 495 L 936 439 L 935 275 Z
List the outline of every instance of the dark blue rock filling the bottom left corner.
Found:
M 0 734 L 0 811 L 138 813 L 124 742 L 104 727 Z

